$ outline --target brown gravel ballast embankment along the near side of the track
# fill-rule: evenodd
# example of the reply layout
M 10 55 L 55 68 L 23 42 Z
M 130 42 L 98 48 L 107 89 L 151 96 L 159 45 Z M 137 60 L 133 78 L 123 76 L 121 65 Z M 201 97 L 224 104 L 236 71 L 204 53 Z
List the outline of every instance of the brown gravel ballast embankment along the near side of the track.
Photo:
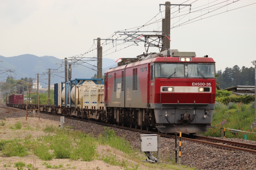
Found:
M 17 110 L 14 113 L 3 114 L 3 109 L 0 108 L 0 119 L 5 116 L 8 117 L 25 117 L 24 110 Z M 58 116 L 46 115 L 41 113 L 40 118 L 60 121 Z M 73 126 L 75 130 L 81 130 L 85 133 L 93 133 L 98 136 L 104 132 L 104 126 L 94 123 L 77 121 L 73 119 L 65 119 L 66 126 Z M 140 134 L 134 131 L 123 130 L 119 128 L 112 128 L 117 136 L 122 136 L 130 142 L 133 148 L 140 149 Z M 238 142 L 245 142 L 243 139 L 227 139 Z M 256 144 L 255 141 L 247 140 L 246 142 Z M 174 139 L 162 138 L 162 160 L 170 161 L 174 159 Z M 201 143 L 194 143 L 189 141 L 182 141 L 181 147 L 181 163 L 189 167 L 196 167 L 197 169 L 210 170 L 254 170 L 256 164 L 256 155 L 240 151 L 226 151 Z

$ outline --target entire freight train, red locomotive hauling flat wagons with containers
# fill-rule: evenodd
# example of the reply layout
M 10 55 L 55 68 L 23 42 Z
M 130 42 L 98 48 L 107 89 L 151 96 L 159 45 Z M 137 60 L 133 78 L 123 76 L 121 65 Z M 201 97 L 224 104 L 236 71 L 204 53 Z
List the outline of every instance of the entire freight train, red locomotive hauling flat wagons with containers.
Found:
M 162 133 L 203 133 L 211 127 L 216 93 L 213 58 L 165 50 L 120 59 L 117 67 L 104 73 L 104 83 L 74 79 L 55 84 L 54 106 L 40 105 L 40 112 L 157 128 Z

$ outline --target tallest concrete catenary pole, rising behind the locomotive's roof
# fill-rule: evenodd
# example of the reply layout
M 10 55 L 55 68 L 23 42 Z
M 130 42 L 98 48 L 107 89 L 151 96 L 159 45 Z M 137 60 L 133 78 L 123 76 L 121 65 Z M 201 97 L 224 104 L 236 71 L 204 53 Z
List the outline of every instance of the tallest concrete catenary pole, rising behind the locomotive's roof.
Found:
M 171 4 L 171 2 L 166 1 L 165 4 Z M 165 35 L 170 38 L 170 28 L 171 28 L 171 6 L 165 6 Z M 165 38 L 165 49 L 170 49 L 170 41 Z

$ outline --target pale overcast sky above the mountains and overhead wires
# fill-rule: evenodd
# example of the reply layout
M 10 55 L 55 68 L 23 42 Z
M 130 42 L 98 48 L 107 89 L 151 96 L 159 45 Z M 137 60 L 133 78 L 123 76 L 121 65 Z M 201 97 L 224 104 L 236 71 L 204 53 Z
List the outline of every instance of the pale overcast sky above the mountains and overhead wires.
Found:
M 172 4 L 186 0 L 173 0 Z M 195 2 L 194 2 L 195 1 Z M 233 3 L 229 0 L 189 0 L 191 12 L 185 18 L 171 19 L 171 25 L 181 24 L 201 14 L 202 20 L 171 29 L 171 49 L 194 51 L 197 57 L 209 55 L 216 61 L 216 70 L 225 67 L 253 66 L 256 60 L 256 4 L 226 12 L 227 10 L 256 3 L 256 0 L 240 0 Z M 221 7 L 219 10 L 213 7 Z M 64 59 L 82 54 L 93 46 L 93 39 L 108 38 L 114 31 L 144 25 L 162 18 L 165 12 L 159 13 L 159 4 L 165 1 L 156 0 L 0 0 L 0 55 L 12 57 L 21 54 L 37 56 L 50 55 Z M 205 6 L 203 6 L 205 5 Z M 201 7 L 200 7 L 201 6 Z M 164 10 L 164 7 L 161 7 Z M 178 7 L 171 9 L 171 13 Z M 184 11 L 186 10 L 186 11 Z M 172 16 L 187 13 L 189 7 L 171 14 Z M 203 19 L 207 16 L 222 14 Z M 158 15 L 157 15 L 158 14 Z M 197 18 L 201 19 L 201 17 Z M 195 21 L 194 19 L 193 21 Z M 176 23 L 175 23 L 176 22 Z M 158 24 L 145 26 L 140 30 L 162 30 Z M 96 43 L 96 42 L 95 42 Z M 113 44 L 105 46 L 110 48 Z M 117 46 L 109 50 L 105 58 L 118 59 L 136 57 L 145 52 L 143 43 L 131 46 L 113 54 Z M 93 46 L 95 47 L 95 45 Z M 150 52 L 158 52 L 151 48 Z M 91 54 L 90 56 L 94 55 Z M 58 67 L 58 66 L 56 66 Z

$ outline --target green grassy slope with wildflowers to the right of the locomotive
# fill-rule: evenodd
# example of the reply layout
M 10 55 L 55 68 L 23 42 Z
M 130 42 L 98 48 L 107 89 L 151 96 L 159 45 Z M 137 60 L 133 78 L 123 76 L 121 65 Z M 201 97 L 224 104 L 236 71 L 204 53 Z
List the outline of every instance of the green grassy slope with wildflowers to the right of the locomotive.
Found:
M 229 103 L 228 105 L 224 105 L 216 102 L 212 120 L 212 126 L 215 126 L 215 128 L 210 128 L 207 133 L 204 133 L 204 135 L 220 137 L 220 128 L 224 127 L 249 132 L 239 132 L 238 134 L 233 134 L 230 132 L 230 130 L 226 130 L 226 137 L 244 139 L 244 135 L 246 134 L 248 140 L 256 140 L 256 134 L 251 133 L 255 133 L 256 130 L 251 130 L 250 127 L 254 121 L 253 104 Z

